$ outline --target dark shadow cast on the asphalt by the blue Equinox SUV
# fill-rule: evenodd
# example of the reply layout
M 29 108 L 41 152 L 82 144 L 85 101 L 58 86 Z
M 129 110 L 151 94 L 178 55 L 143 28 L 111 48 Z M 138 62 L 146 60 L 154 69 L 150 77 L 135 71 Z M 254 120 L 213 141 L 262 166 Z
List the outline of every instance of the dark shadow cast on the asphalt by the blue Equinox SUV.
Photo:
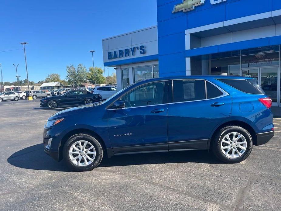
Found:
M 43 144 L 26 147 L 12 154 L 8 163 L 19 168 L 48 170 L 48 171 L 71 171 L 63 162 L 57 162 L 43 152 Z M 168 164 L 168 163 L 208 163 L 219 164 L 212 154 L 206 150 L 160 152 L 144 154 L 117 155 L 111 158 L 104 157 L 98 167 L 129 166 L 143 164 Z

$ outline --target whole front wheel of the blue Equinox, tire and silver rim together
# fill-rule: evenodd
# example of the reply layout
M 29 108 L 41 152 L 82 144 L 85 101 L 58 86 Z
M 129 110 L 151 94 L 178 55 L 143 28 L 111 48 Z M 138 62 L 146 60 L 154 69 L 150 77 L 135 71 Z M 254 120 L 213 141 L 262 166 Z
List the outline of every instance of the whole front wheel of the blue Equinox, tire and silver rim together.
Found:
M 102 160 L 103 149 L 100 142 L 87 134 L 70 137 L 63 147 L 63 158 L 74 171 L 91 171 Z

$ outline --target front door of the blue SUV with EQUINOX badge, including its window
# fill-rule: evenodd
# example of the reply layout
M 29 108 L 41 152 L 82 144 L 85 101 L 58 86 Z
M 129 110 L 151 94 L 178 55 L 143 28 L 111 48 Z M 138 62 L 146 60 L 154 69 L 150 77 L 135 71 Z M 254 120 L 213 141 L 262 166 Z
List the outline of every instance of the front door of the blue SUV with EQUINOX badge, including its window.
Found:
M 108 132 L 115 154 L 167 151 L 168 81 L 142 85 L 119 100 L 124 109 L 108 109 Z

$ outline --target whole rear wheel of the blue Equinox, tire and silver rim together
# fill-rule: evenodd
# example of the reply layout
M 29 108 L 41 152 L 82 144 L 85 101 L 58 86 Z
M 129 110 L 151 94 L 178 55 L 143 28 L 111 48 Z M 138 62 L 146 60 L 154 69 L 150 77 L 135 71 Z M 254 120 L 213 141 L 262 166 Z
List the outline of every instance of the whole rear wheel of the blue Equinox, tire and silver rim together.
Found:
M 253 146 L 250 133 L 240 126 L 226 126 L 220 129 L 212 141 L 213 153 L 225 163 L 244 161 Z

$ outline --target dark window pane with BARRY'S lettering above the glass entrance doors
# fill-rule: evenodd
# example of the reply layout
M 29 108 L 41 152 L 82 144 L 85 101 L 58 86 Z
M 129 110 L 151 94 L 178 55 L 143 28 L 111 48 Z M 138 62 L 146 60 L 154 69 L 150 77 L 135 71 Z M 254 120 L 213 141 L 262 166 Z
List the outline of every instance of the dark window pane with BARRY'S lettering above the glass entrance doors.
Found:
M 242 68 L 279 65 L 279 46 L 250 48 L 241 51 Z

